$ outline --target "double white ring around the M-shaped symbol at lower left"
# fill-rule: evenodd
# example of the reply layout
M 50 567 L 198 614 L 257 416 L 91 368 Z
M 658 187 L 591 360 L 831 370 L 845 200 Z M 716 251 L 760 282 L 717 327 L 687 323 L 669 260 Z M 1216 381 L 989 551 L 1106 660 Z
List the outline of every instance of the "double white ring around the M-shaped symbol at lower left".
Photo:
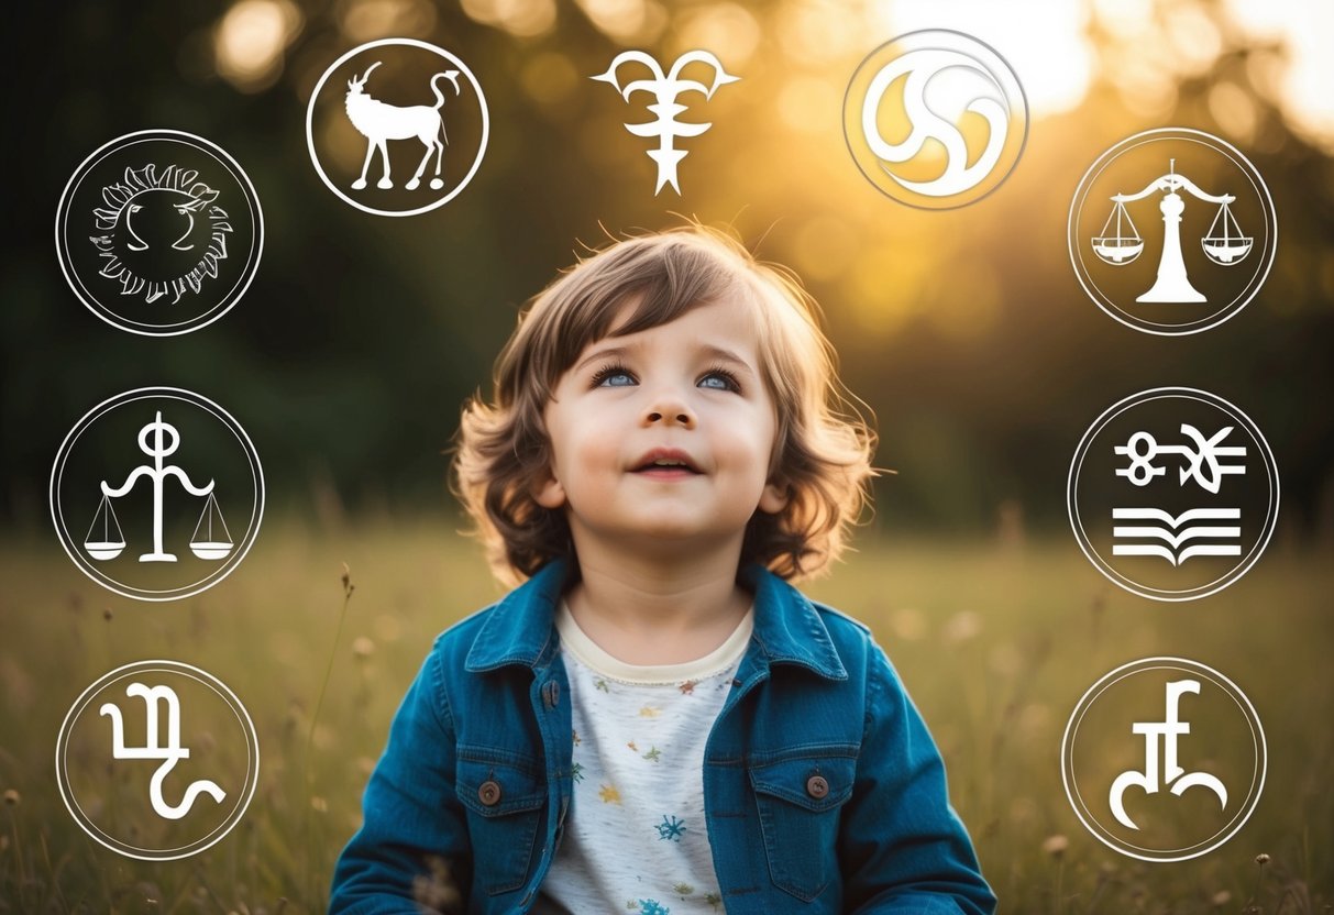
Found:
M 79 814 L 75 812 L 75 808 L 79 807 L 79 803 L 77 800 L 73 799 L 73 791 L 69 788 L 68 780 L 65 778 L 64 758 L 68 751 L 67 746 L 67 740 L 69 738 L 68 731 L 73 726 L 75 719 L 77 719 L 77 716 L 83 714 L 83 708 L 87 706 L 85 700 L 91 695 L 100 692 L 112 682 L 121 679 L 123 676 L 131 672 L 152 671 L 152 670 L 167 671 L 203 683 L 204 686 L 212 688 L 215 694 L 221 696 L 223 702 L 225 702 L 232 708 L 233 714 L 239 711 L 240 715 L 237 716 L 237 720 L 244 718 L 245 723 L 244 730 L 247 731 L 247 738 L 248 738 L 245 743 L 245 750 L 252 760 L 245 774 L 245 783 L 248 784 L 248 790 L 245 788 L 241 790 L 244 799 L 237 802 L 232 812 L 227 816 L 227 820 L 224 820 L 224 826 L 215 827 L 208 834 L 205 834 L 203 839 L 199 839 L 187 847 L 192 847 L 195 844 L 199 844 L 200 842 L 204 842 L 204 839 L 208 839 L 208 842 L 205 842 L 204 844 L 199 844 L 199 847 L 195 848 L 193 851 L 184 851 L 181 854 L 151 854 L 145 848 L 129 846 L 128 842 L 123 843 L 129 848 L 135 848 L 135 851 L 137 852 L 145 852 L 145 854 L 135 854 L 135 851 L 127 851 L 125 848 L 120 848 L 116 844 L 112 844 L 113 842 L 116 842 L 113 836 L 107 836 L 107 834 L 101 832 L 101 830 L 89 828 L 89 824 L 84 823 L 84 820 L 80 819 Z M 103 847 L 109 848 L 117 855 L 124 855 L 125 858 L 135 858 L 137 860 L 163 860 L 163 862 L 180 860 L 181 858 L 189 858 L 192 855 L 197 855 L 199 852 L 207 848 L 212 848 L 215 844 L 221 842 L 228 832 L 236 828 L 237 823 L 241 822 L 241 818 L 249 808 L 251 799 L 253 799 L 255 796 L 255 790 L 259 787 L 259 734 L 255 731 L 255 722 L 251 719 L 249 712 L 245 710 L 245 706 L 241 703 L 241 700 L 237 699 L 236 694 L 232 692 L 231 687 L 228 687 L 225 683 L 219 680 L 208 671 L 204 671 L 199 667 L 193 667 L 192 664 L 187 664 L 179 660 L 167 660 L 167 659 L 139 660 L 129 664 L 123 664 L 113 671 L 103 674 L 100 678 L 97 678 L 97 680 L 93 682 L 92 686 L 89 686 L 87 690 L 79 694 L 79 698 L 75 699 L 73 704 L 69 707 L 69 711 L 65 712 L 64 722 L 60 724 L 60 732 L 56 735 L 56 784 L 60 790 L 60 799 L 64 802 L 65 810 L 69 812 L 69 816 L 75 820 L 75 823 L 79 824 L 79 828 L 87 832 L 91 839 L 93 839 Z M 83 808 L 79 807 L 79 810 L 81 812 Z M 165 851 L 176 851 L 176 850 L 171 848 Z

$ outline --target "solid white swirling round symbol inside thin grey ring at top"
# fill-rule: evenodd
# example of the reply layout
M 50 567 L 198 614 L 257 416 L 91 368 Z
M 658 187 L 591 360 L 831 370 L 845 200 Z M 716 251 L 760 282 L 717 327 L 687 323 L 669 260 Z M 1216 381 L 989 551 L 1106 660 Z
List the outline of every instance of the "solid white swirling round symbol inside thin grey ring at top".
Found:
M 995 89 L 995 95 L 974 96 L 964 107 L 964 111 L 984 117 L 990 127 L 987 147 L 972 165 L 967 164 L 968 148 L 959 128 L 931 111 L 926 100 L 927 85 L 944 71 L 956 68 L 980 75 Z M 880 133 L 876 113 L 890 85 L 903 75 L 907 75 L 903 108 L 912 124 L 912 132 L 902 143 L 888 143 Z M 1000 160 L 1009 132 L 1010 107 L 1005 88 L 991 71 L 958 51 L 920 48 L 904 53 L 880 68 L 862 103 L 862 133 L 871 152 L 882 160 L 880 168 L 904 189 L 928 197 L 962 193 L 986 179 Z M 886 161 L 903 163 L 916 156 L 928 139 L 939 140 L 944 147 L 946 168 L 939 177 L 930 181 L 910 181 L 886 168 Z

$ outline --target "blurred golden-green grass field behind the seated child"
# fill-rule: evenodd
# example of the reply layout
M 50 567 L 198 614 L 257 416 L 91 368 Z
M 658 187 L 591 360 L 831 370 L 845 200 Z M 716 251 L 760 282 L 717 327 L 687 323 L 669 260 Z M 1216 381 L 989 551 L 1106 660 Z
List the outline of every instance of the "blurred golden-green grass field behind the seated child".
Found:
M 450 531 L 442 522 L 315 532 L 269 520 L 229 579 L 172 604 L 99 588 L 53 539 L 5 543 L 0 911 L 321 911 L 366 778 L 431 638 L 500 594 L 479 551 Z M 1334 911 L 1327 550 L 1275 542 L 1238 584 L 1175 606 L 1113 587 L 1069 538 L 1002 547 L 862 536 L 859 547 L 807 591 L 867 622 L 888 651 L 940 744 L 1002 911 Z M 355 588 L 346 602 L 343 563 Z M 1255 815 L 1222 848 L 1171 864 L 1102 846 L 1061 782 L 1061 736 L 1079 696 L 1150 655 L 1225 672 L 1254 703 L 1269 743 Z M 75 698 L 149 658 L 224 680 L 255 719 L 261 750 L 240 826 L 177 862 L 139 862 L 92 842 L 65 811 L 53 770 Z

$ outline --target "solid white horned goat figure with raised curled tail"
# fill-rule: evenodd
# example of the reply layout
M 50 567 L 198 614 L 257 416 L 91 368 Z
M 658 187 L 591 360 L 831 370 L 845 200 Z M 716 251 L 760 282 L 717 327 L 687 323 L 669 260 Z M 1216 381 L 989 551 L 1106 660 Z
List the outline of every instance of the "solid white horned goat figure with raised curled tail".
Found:
M 415 136 L 426 147 L 426 153 L 418 164 L 416 173 L 412 175 L 412 180 L 404 187 L 408 191 L 415 191 L 422 184 L 422 172 L 426 171 L 426 164 L 431 160 L 431 153 L 434 152 L 435 177 L 431 179 L 431 189 L 439 191 L 444 187 L 444 181 L 440 179 L 440 164 L 444 159 L 444 144 L 450 141 L 450 135 L 444 129 L 444 116 L 440 113 L 440 108 L 444 107 L 444 95 L 435 81 L 442 76 L 446 77 L 454 83 L 454 93 L 460 95 L 459 71 L 448 69 L 431 77 L 435 105 L 400 107 L 386 104 L 366 93 L 366 80 L 371 77 L 371 71 L 379 67 L 380 63 L 376 60 L 360 79 L 352 76 L 347 81 L 347 117 L 352 121 L 352 127 L 366 137 L 366 161 L 362 164 L 362 177 L 352 181 L 352 187 L 356 191 L 366 187 L 366 172 L 371 168 L 371 157 L 379 149 L 380 160 L 384 164 L 384 175 L 375 183 L 375 187 L 382 189 L 392 188 L 394 181 L 390 179 L 390 152 L 387 143 L 390 140 L 407 140 Z

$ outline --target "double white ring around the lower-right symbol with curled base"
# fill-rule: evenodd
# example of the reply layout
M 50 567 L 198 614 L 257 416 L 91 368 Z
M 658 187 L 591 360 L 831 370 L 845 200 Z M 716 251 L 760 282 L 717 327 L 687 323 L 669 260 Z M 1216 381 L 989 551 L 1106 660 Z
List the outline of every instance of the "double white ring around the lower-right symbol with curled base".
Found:
M 1185 664 L 1185 667 L 1182 667 L 1183 664 Z M 1147 667 L 1147 666 L 1153 666 L 1153 667 Z M 1251 727 L 1251 742 L 1253 742 L 1254 746 L 1258 747 L 1258 754 L 1257 754 L 1257 759 L 1255 759 L 1257 767 L 1254 770 L 1254 774 L 1251 775 L 1253 791 L 1250 794 L 1247 794 L 1247 799 L 1249 799 L 1250 807 L 1246 811 L 1246 814 L 1243 816 L 1241 816 L 1239 822 L 1237 822 L 1237 816 L 1234 815 L 1233 822 L 1235 824 L 1231 826 L 1231 828 L 1229 828 L 1229 827 L 1225 826 L 1222 830 L 1219 830 L 1218 832 L 1215 832 L 1209 839 L 1205 839 L 1203 842 L 1197 843 L 1197 844 L 1206 844 L 1206 843 L 1211 842 L 1214 838 L 1217 838 L 1221 832 L 1226 831 L 1226 835 L 1223 835 L 1223 838 L 1218 839 L 1213 844 L 1209 844 L 1206 848 L 1201 848 L 1199 851 L 1193 851 L 1189 855 L 1178 855 L 1175 858 L 1153 858 L 1153 856 L 1147 856 L 1147 855 L 1135 854 L 1134 851 L 1127 851 L 1126 848 L 1122 848 L 1121 846 L 1115 844 L 1113 840 L 1110 840 L 1109 838 L 1106 838 L 1099 828 L 1095 828 L 1094 826 L 1091 826 L 1089 823 L 1089 820 L 1085 819 L 1085 815 L 1083 815 L 1083 811 L 1082 811 L 1082 804 L 1077 804 L 1075 803 L 1074 795 L 1071 794 L 1071 787 L 1070 787 L 1071 776 L 1070 776 L 1070 772 L 1069 772 L 1069 768 L 1070 768 L 1070 759 L 1069 759 L 1069 756 L 1070 756 L 1071 728 L 1078 730 L 1078 727 L 1075 724 L 1075 720 L 1077 719 L 1082 720 L 1083 715 L 1087 714 L 1089 708 L 1091 708 L 1093 702 L 1097 702 L 1097 699 L 1098 699 L 1098 696 L 1094 696 L 1094 700 L 1089 702 L 1089 698 L 1095 691 L 1101 695 L 1103 690 L 1099 690 L 1099 687 L 1102 687 L 1103 683 L 1107 683 L 1109 680 L 1113 680 L 1114 678 L 1115 678 L 1115 680 L 1119 682 L 1119 680 L 1123 680 L 1123 679 L 1126 679 L 1129 676 L 1133 676 L 1133 675 L 1135 675 L 1138 672 L 1145 672 L 1145 671 L 1150 671 L 1150 670 L 1161 670 L 1163 667 L 1170 668 L 1170 670 L 1179 670 L 1179 671 L 1186 672 L 1186 674 L 1202 674 L 1202 672 L 1207 672 L 1207 674 L 1202 674 L 1202 675 L 1206 675 L 1209 679 L 1211 679 L 1215 686 L 1221 686 L 1225 690 L 1225 692 L 1230 692 L 1231 695 L 1229 698 L 1238 707 L 1242 708 L 1243 715 L 1247 711 L 1250 712 L 1250 716 L 1249 716 L 1249 719 L 1247 719 L 1246 723 L 1247 723 L 1247 726 L 1253 726 Z M 1138 670 L 1131 670 L 1131 668 L 1138 668 Z M 1119 674 L 1122 674 L 1122 671 L 1126 671 L 1126 674 L 1123 676 L 1118 676 Z M 1223 687 L 1222 684 L 1226 684 L 1226 687 Z M 1109 683 L 1109 686 L 1111 686 L 1111 684 Z M 1241 702 L 1238 702 L 1238 700 L 1241 700 Z M 1086 702 L 1087 702 L 1087 706 L 1086 706 Z M 1066 722 L 1065 734 L 1062 734 L 1062 736 L 1061 736 L 1061 783 L 1062 783 L 1062 787 L 1065 788 L 1065 792 L 1066 792 L 1066 800 L 1070 802 L 1070 807 L 1071 807 L 1071 810 L 1074 810 L 1075 816 L 1079 819 L 1079 822 L 1083 824 L 1083 827 L 1086 830 L 1089 830 L 1089 832 L 1095 839 L 1098 839 L 1098 842 L 1103 843 L 1105 846 L 1107 846 L 1113 851 L 1115 851 L 1118 854 L 1122 854 L 1122 855 L 1126 855 L 1127 858 L 1135 858 L 1138 860 L 1149 862 L 1149 863 L 1153 863 L 1153 864 L 1167 864 L 1167 863 L 1171 863 L 1171 862 L 1183 862 L 1183 860 L 1190 860 L 1191 858 L 1199 858 L 1201 855 L 1207 855 L 1209 852 L 1211 852 L 1215 848 L 1221 847 L 1223 843 L 1226 843 L 1234 835 L 1237 835 L 1237 832 L 1241 831 L 1241 828 L 1243 826 L 1246 826 L 1246 822 L 1251 818 L 1251 814 L 1254 814 L 1255 808 L 1259 806 L 1259 798 L 1261 798 L 1261 795 L 1265 791 L 1265 776 L 1266 776 L 1267 772 L 1269 772 L 1269 743 L 1265 739 L 1265 728 L 1263 728 L 1263 726 L 1259 722 L 1259 712 L 1255 711 L 1255 706 L 1251 704 L 1251 700 L 1246 696 L 1245 692 L 1242 692 L 1241 687 L 1238 687 L 1235 683 L 1233 683 L 1229 678 L 1223 676 L 1222 674 L 1219 674 L 1218 671 L 1215 671 L 1213 667 L 1209 667 L 1207 664 L 1202 664 L 1198 660 L 1190 660 L 1187 658 L 1174 658 L 1174 656 L 1166 656 L 1166 655 L 1161 655 L 1161 656 L 1155 656 L 1155 658 L 1141 658 L 1139 660 L 1133 660 L 1130 663 L 1122 664 L 1121 667 L 1118 667 L 1118 668 L 1115 668 L 1113 671 L 1109 671 L 1107 674 L 1103 674 L 1098 679 L 1097 683 L 1094 683 L 1091 687 L 1089 687 L 1085 691 L 1085 694 L 1079 698 L 1079 702 L 1075 703 L 1074 711 L 1070 712 L 1070 719 Z M 1078 792 L 1078 790 L 1079 790 L 1078 786 L 1075 786 L 1075 792 Z M 1166 854 L 1174 854 L 1174 851 L 1179 851 L 1179 850 L 1171 850 L 1171 851 L 1167 851 Z

